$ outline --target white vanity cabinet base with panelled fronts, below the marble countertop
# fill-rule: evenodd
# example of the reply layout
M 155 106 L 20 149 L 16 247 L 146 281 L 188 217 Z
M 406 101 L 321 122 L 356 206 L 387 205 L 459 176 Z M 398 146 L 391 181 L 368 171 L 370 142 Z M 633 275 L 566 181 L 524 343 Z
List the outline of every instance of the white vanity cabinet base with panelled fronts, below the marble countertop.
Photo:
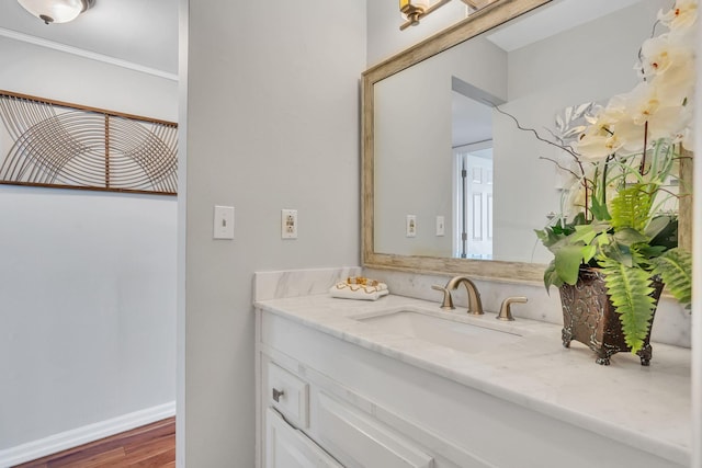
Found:
M 259 468 L 686 466 L 312 321 L 256 316 Z

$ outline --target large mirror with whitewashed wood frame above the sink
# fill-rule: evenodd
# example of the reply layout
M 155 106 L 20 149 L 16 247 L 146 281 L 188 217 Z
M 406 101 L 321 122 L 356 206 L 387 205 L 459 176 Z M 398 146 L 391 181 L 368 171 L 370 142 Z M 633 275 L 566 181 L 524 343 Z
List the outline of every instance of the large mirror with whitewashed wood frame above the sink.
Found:
M 557 140 L 633 89 L 669 3 L 498 0 L 366 70 L 364 266 L 540 283 L 552 256 L 534 229 L 561 213 L 565 181 L 562 150 L 523 128 Z M 687 246 L 690 197 L 675 209 Z

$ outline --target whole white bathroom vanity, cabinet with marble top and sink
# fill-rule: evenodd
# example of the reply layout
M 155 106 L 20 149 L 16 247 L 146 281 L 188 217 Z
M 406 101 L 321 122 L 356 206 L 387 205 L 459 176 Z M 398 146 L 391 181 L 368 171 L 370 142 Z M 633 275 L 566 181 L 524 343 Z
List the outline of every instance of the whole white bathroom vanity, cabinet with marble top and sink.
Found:
M 258 466 L 689 465 L 689 350 L 599 366 L 558 326 L 495 317 L 394 295 L 257 301 Z

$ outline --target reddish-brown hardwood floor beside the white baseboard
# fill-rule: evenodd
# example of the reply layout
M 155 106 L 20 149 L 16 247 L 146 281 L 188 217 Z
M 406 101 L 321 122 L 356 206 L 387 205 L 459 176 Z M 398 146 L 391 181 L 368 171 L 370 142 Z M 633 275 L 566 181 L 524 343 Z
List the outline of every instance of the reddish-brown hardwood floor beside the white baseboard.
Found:
M 70 448 L 14 468 L 174 468 L 176 418 Z

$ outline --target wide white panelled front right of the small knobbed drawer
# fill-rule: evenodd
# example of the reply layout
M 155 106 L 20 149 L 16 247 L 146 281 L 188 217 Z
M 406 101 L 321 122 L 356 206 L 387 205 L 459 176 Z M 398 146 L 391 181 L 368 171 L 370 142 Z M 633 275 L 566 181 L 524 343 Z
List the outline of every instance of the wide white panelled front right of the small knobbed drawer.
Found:
M 319 392 L 319 442 L 349 467 L 433 468 L 433 457 L 369 415 Z

